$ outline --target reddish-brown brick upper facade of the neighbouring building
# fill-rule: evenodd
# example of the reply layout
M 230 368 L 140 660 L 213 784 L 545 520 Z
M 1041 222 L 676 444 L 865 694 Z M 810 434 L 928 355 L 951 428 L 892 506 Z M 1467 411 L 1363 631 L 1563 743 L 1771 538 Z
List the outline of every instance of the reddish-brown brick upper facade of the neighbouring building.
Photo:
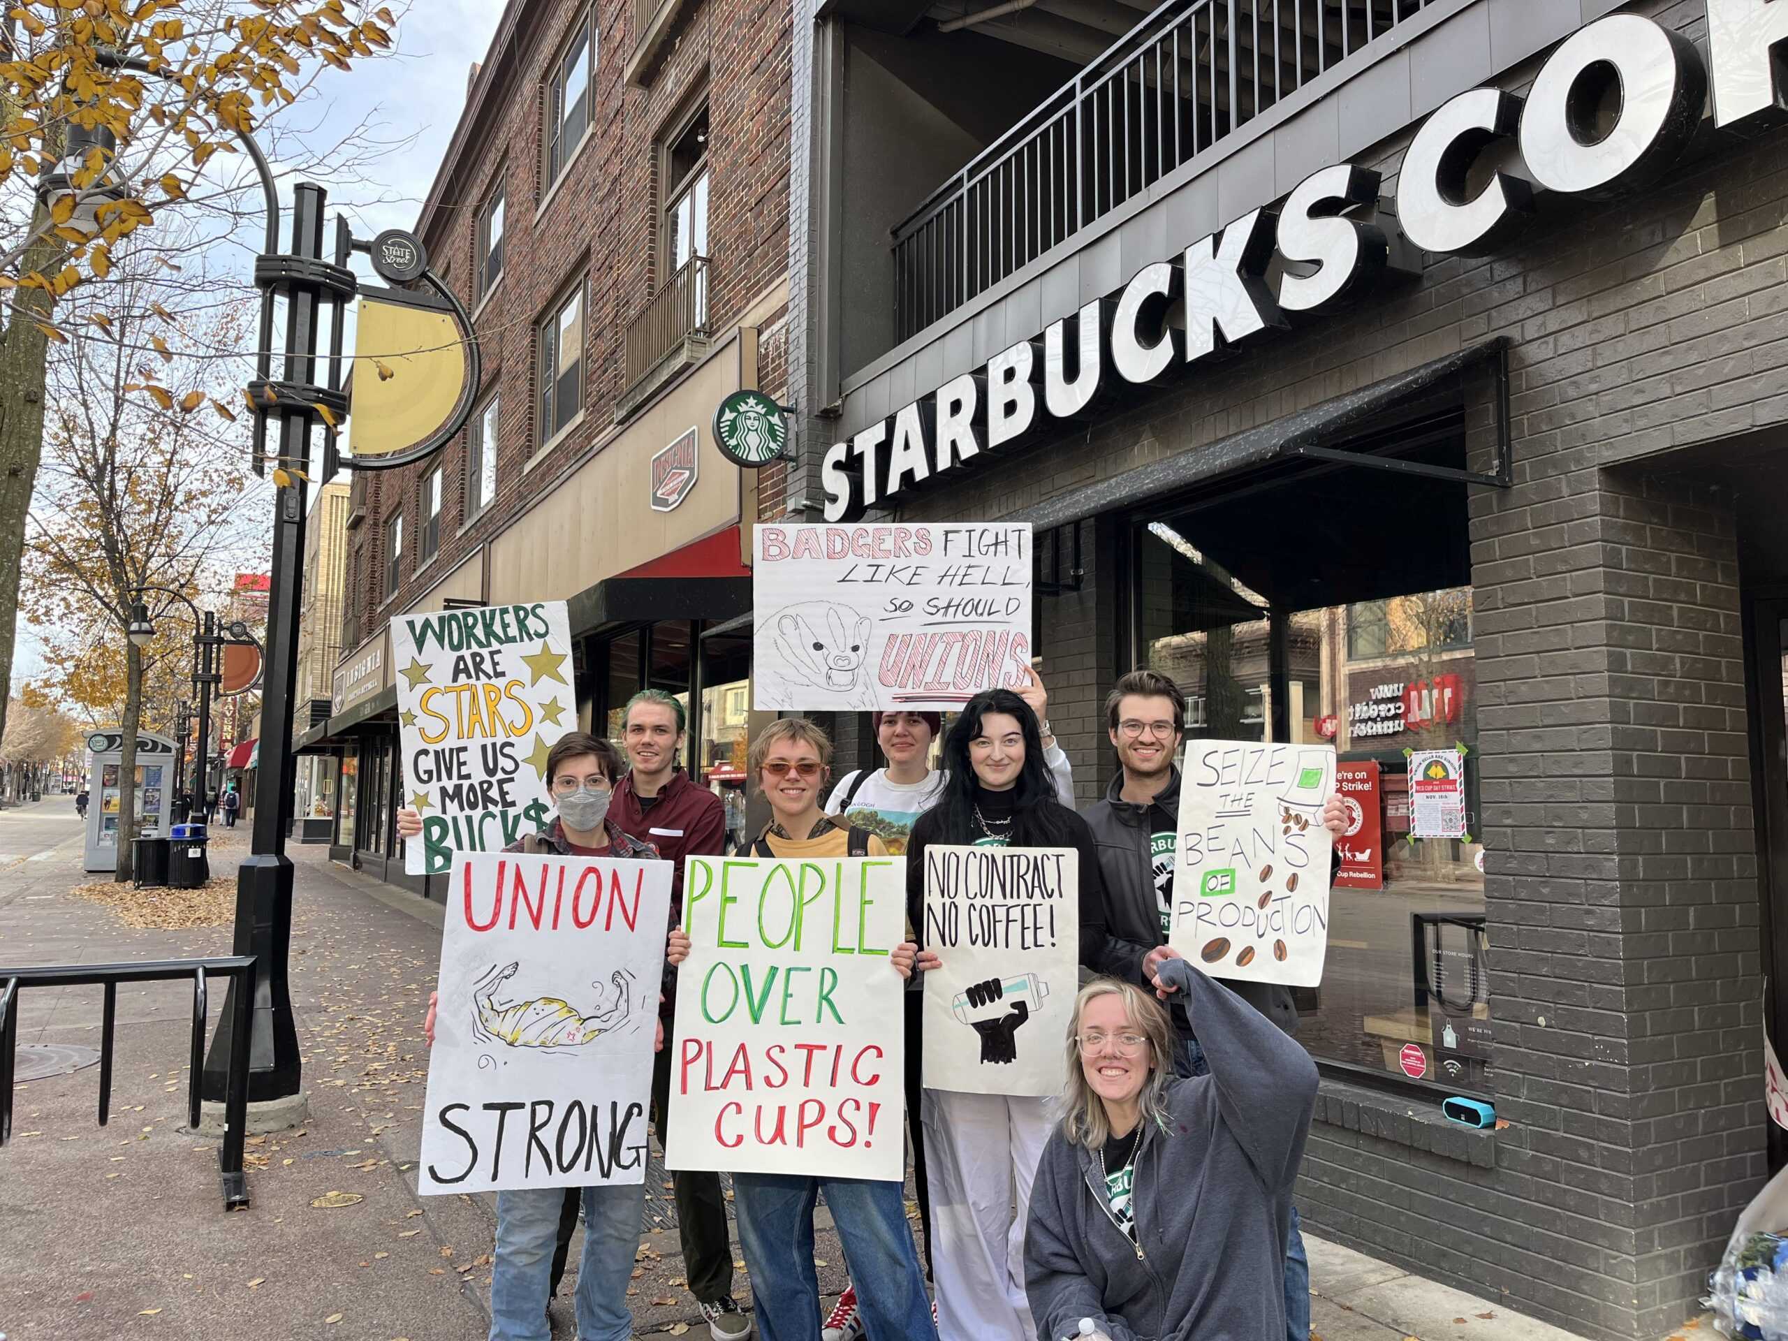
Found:
M 626 329 L 663 270 L 658 254 L 665 241 L 660 145 L 703 89 L 710 118 L 708 250 L 713 263 L 708 302 L 713 329 L 724 333 L 735 325 L 787 272 L 789 7 L 771 0 L 703 0 L 692 7 L 651 86 L 640 89 L 622 82 L 633 50 L 633 4 L 595 0 L 599 63 L 592 134 L 563 181 L 544 198 L 544 84 L 583 11 L 585 0 L 535 0 L 524 7 L 517 64 L 492 88 L 463 150 L 447 164 L 440 207 L 424 236 L 436 270 L 449 270 L 449 283 L 472 308 L 476 220 L 501 173 L 508 190 L 504 277 L 476 316 L 485 354 L 479 402 L 492 390 L 502 395 L 495 501 L 461 533 L 467 520 L 461 434 L 438 458 L 445 467 L 440 556 L 418 574 L 417 490 L 424 470 L 370 476 L 367 520 L 350 535 L 349 572 L 361 574 L 349 592 L 349 622 L 358 638 L 370 637 L 393 610 L 495 536 L 613 427 L 613 406 L 626 390 Z M 524 474 L 538 442 L 535 325 L 583 270 L 590 277 L 583 327 L 585 417 Z M 404 583 L 397 599 L 386 604 L 386 526 L 399 506 L 406 511 Z M 588 581 L 604 576 L 592 572 Z

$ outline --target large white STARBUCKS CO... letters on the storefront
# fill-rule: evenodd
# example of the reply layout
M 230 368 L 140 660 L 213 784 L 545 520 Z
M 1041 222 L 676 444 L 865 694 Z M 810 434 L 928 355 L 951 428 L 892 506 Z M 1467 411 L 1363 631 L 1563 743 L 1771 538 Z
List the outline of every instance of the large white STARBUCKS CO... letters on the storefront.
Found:
M 821 463 L 826 520 L 889 506 L 982 452 L 1084 417 L 1103 392 L 1345 308 L 1387 272 L 1418 272 L 1421 250 L 1486 254 L 1532 215 L 1536 190 L 1604 200 L 1650 186 L 1700 127 L 1709 93 L 1720 129 L 1781 105 L 1770 48 L 1788 41 L 1788 0 L 1706 5 L 1706 59 L 1638 14 L 1588 23 L 1547 57 L 1525 98 L 1479 88 L 1441 104 L 1409 145 L 1395 200 L 1371 168 L 1320 168 L 1277 209 L 1252 209 L 1144 265 L 1116 293 L 833 443 Z M 1609 79 L 1620 95 L 1598 118 Z M 1486 150 L 1518 157 L 1525 175 L 1479 184 L 1472 168 Z

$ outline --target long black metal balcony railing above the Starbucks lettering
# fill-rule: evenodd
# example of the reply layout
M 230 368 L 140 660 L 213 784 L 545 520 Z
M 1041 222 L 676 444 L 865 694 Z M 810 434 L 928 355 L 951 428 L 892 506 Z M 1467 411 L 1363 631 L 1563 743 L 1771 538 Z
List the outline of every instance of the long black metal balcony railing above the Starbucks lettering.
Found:
M 1168 0 L 894 229 L 907 340 L 1438 0 Z

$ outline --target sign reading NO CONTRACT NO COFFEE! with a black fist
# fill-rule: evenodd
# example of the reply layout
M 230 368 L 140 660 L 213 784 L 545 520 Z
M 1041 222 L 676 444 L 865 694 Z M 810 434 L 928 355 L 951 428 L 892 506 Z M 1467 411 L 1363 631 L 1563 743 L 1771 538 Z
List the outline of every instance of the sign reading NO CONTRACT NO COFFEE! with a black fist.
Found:
M 1080 989 L 1080 853 L 924 849 L 924 1084 L 1060 1094 Z

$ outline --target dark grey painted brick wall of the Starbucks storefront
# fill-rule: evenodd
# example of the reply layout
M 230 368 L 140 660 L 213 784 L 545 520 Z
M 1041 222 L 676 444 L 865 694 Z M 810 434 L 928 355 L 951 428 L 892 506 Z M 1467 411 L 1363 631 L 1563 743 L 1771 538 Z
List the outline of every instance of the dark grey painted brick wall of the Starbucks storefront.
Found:
M 1636 5 L 1700 38 L 1699 4 Z M 1514 72 L 1523 86 L 1532 68 Z M 1395 191 L 1405 136 L 1362 161 Z M 1407 1098 L 1325 1096 L 1300 1205 L 1325 1236 L 1597 1337 L 1695 1312 L 1765 1173 L 1756 831 L 1729 495 L 1652 458 L 1788 420 L 1788 132 L 1709 136 L 1643 195 L 1547 202 L 1491 257 L 1432 261 L 1219 375 L 1126 392 L 907 519 L 998 519 L 1489 336 L 1507 336 L 1514 488 L 1473 488 L 1498 1114 L 1413 1144 Z M 958 372 L 946 368 L 944 375 Z M 1466 392 L 1489 467 L 1488 379 Z M 1143 502 L 1143 501 L 1139 501 Z M 1082 794 L 1121 601 L 1042 597 Z M 1366 519 L 1362 524 L 1370 524 Z M 1084 620 L 1084 622 L 1082 622 Z M 1350 1114 L 1345 1116 L 1345 1114 Z

